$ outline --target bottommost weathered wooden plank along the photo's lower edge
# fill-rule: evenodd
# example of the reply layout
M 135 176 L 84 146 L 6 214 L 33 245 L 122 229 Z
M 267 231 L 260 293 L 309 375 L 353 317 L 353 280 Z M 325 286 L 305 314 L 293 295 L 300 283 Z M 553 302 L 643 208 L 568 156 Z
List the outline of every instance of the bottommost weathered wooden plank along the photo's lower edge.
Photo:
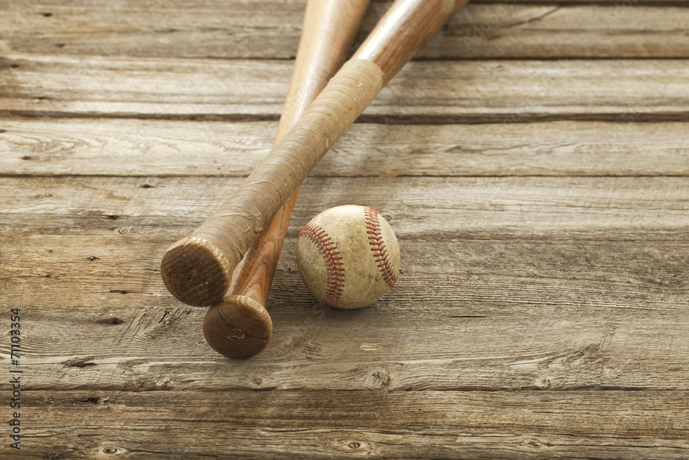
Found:
M 28 393 L 32 394 L 32 393 Z M 33 396 L 33 395 L 32 395 Z M 41 391 L 12 458 L 682 459 L 682 391 Z

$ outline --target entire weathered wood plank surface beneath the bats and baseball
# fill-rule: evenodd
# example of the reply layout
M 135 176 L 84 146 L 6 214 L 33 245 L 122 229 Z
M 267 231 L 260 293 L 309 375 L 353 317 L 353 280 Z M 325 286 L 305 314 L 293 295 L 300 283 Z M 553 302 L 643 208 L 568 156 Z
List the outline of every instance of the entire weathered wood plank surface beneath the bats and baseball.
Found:
M 464 8 L 305 182 L 232 361 L 158 266 L 269 150 L 304 6 L 0 0 L 0 457 L 689 457 L 689 3 Z M 402 272 L 325 311 L 294 238 L 345 203 Z

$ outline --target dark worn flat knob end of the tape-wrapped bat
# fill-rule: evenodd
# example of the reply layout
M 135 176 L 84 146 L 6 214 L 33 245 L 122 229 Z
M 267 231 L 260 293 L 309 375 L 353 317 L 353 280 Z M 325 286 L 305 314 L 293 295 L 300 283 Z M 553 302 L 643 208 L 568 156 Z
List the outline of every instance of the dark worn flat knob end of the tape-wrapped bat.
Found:
M 207 307 L 223 299 L 232 281 L 232 266 L 213 243 L 189 237 L 165 252 L 161 275 L 165 287 L 178 301 Z

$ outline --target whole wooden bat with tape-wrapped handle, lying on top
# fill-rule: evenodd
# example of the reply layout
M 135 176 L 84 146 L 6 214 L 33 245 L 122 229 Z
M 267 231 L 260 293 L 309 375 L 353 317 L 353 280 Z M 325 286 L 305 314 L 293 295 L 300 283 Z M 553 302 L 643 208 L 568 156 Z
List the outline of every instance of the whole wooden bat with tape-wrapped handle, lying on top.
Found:
M 167 250 L 161 274 L 174 297 L 194 306 L 213 305 L 223 298 L 232 270 L 313 166 L 467 1 L 393 3 L 359 50 L 238 190 L 192 236 Z

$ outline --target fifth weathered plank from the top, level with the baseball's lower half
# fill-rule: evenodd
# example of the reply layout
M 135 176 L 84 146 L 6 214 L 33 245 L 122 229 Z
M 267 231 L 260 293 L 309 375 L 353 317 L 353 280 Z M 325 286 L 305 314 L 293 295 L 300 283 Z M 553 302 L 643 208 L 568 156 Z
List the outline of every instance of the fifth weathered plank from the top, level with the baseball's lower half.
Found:
M 112 306 L 132 302 L 176 305 L 158 272 L 167 241 L 152 235 L 8 234 L 3 238 L 5 277 L 18 283 L 8 285 L 6 292 L 12 292 L 19 303 L 53 307 L 99 306 L 103 302 Z M 284 294 L 276 299 L 284 300 L 286 306 L 294 299 L 310 305 L 312 298 L 297 277 L 294 244 L 291 238 L 285 242 L 278 265 L 280 278 L 276 280 L 278 292 Z M 443 245 L 446 250 L 442 250 Z M 447 303 L 448 308 L 469 308 L 466 302 L 480 299 L 487 302 L 486 308 L 497 302 L 500 311 L 528 306 L 529 302 L 550 308 L 564 299 L 582 308 L 592 304 L 646 310 L 686 308 L 683 289 L 687 283 L 682 277 L 688 257 L 686 241 L 588 241 L 582 245 L 579 241 L 521 239 L 402 239 L 401 246 L 407 280 L 400 281 L 400 290 L 409 292 L 390 294 L 395 299 L 438 301 L 440 305 Z M 537 254 L 531 254 L 533 251 Z M 457 256 L 452 257 L 455 253 Z M 438 255 L 429 260 L 428 254 Z M 635 259 L 639 266 L 627 267 L 625 258 Z M 65 265 L 65 261 L 70 263 Z M 443 274 L 451 275 L 451 279 L 443 279 Z M 491 279 L 491 284 L 482 284 L 486 279 Z M 30 286 L 25 286 L 27 283 Z M 79 290 L 75 292 L 76 285 Z M 420 288 L 424 285 L 429 287 Z M 567 286 L 583 297 L 570 299 L 560 292 Z M 54 299 L 45 299 L 43 291 L 47 289 L 54 292 Z M 509 295 L 502 299 L 496 290 Z

